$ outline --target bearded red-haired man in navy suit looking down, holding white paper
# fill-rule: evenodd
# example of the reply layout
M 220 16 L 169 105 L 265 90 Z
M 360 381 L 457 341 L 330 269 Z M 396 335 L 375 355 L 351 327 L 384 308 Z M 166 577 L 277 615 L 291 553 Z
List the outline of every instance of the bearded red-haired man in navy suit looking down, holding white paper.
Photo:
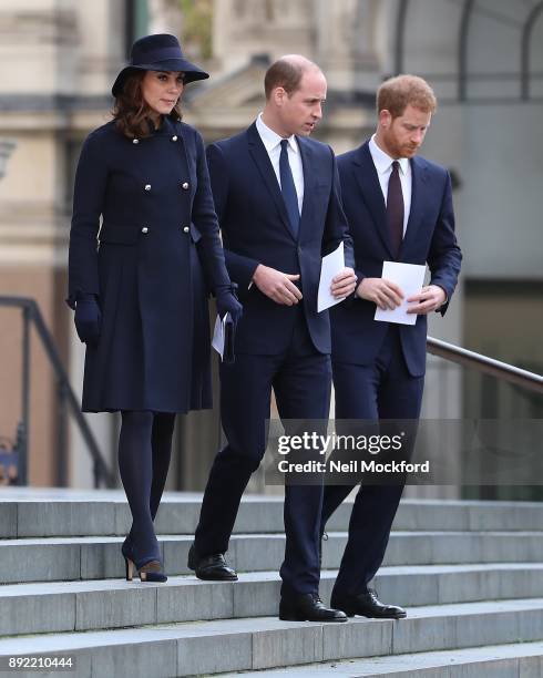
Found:
M 357 288 L 350 305 L 331 312 L 336 420 L 411 420 L 420 414 L 426 369 L 427 315 L 444 315 L 457 285 L 461 253 L 454 237 L 449 173 L 417 157 L 436 110 L 421 78 L 399 75 L 377 92 L 373 136 L 338 157 L 341 194 L 355 243 Z M 381 277 L 386 260 L 428 264 L 430 284 L 409 298 L 413 326 L 373 319 L 392 309 L 402 290 Z M 416 427 L 414 427 L 416 428 Z M 354 485 L 325 487 L 326 521 Z M 403 483 L 360 486 L 331 605 L 366 617 L 401 618 L 368 588 L 380 567 Z

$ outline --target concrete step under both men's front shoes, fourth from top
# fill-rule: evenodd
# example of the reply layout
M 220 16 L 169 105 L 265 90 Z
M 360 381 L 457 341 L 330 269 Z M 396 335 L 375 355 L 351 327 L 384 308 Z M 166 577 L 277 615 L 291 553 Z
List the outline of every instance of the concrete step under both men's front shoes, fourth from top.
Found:
M 4 638 L 0 658 L 63 655 L 75 660 L 78 678 L 160 678 L 542 639 L 540 598 L 420 607 L 399 622 L 263 617 Z

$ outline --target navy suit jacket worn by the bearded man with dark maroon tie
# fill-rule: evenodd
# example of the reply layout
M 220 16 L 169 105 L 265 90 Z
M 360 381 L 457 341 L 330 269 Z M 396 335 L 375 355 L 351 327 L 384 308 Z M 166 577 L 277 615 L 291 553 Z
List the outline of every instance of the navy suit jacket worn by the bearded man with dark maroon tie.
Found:
M 411 161 L 411 208 L 398 261 L 428 264 L 430 284 L 439 285 L 448 302 L 454 291 L 462 255 L 454 236 L 454 214 L 449 173 L 422 157 Z M 386 205 L 368 142 L 338 157 L 345 212 L 355 243 L 359 279 L 380 278 L 382 263 L 395 260 L 388 237 Z M 371 363 L 381 347 L 389 323 L 373 320 L 376 305 L 356 297 L 331 311 L 332 358 L 354 364 Z M 403 356 L 412 377 L 426 370 L 427 317 L 414 326 L 400 325 Z

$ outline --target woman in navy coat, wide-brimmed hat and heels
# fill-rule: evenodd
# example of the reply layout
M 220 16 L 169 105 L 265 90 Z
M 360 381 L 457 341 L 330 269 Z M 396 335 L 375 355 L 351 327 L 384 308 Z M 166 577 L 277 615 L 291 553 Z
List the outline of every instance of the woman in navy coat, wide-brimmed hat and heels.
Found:
M 142 581 L 166 581 L 153 520 L 175 413 L 212 404 L 207 288 L 221 316 L 242 312 L 202 136 L 178 109 L 184 85 L 205 78 L 174 35 L 137 40 L 113 84 L 114 119 L 88 136 L 75 175 L 68 304 L 86 343 L 82 409 L 122 413 L 129 579 L 135 564 Z

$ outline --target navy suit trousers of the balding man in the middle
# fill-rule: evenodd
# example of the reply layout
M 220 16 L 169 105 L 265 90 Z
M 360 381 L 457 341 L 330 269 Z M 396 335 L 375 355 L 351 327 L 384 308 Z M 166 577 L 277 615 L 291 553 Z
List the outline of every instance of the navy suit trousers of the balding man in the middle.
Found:
M 330 386 L 330 357 L 316 351 L 301 309 L 281 355 L 238 353 L 233 364 L 222 364 L 221 414 L 228 444 L 216 455 L 205 489 L 195 533 L 199 555 L 228 548 L 242 494 L 266 450 L 272 388 L 283 420 L 327 420 Z M 321 484 L 286 484 L 283 594 L 318 590 L 321 507 Z

